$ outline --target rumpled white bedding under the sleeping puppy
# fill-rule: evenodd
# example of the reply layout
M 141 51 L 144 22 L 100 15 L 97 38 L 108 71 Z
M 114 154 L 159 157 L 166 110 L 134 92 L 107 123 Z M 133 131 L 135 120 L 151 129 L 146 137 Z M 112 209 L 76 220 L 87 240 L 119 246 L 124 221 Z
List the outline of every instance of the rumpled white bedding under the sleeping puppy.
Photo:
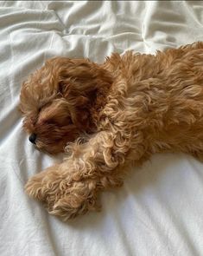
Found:
M 203 255 L 203 165 L 157 154 L 103 211 L 63 223 L 23 192 L 50 166 L 17 110 L 21 83 L 53 56 L 102 62 L 112 51 L 154 53 L 203 40 L 202 2 L 0 2 L 0 255 Z

